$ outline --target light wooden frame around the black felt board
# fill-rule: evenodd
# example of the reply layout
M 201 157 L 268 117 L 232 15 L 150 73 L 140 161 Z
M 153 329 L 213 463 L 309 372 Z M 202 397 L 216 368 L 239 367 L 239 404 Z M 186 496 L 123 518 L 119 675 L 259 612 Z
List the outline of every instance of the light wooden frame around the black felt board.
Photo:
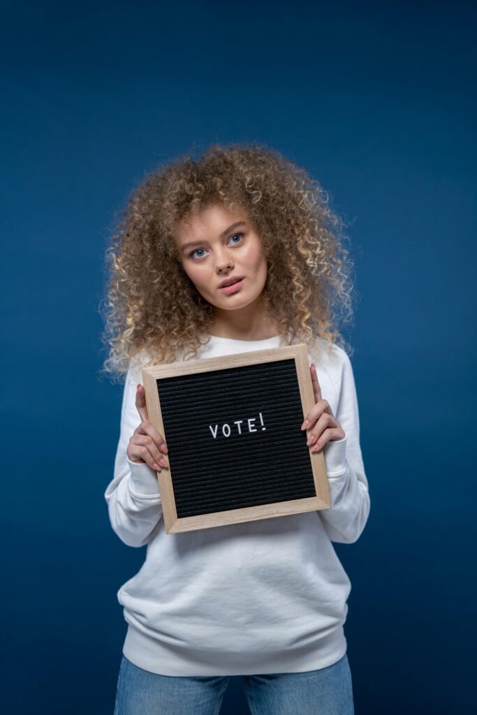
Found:
M 190 375 L 192 373 L 206 373 L 210 370 L 223 370 L 227 368 L 239 368 L 245 365 L 256 365 L 257 363 L 271 363 L 275 360 L 285 360 L 293 358 L 297 371 L 297 381 L 300 389 L 300 400 L 303 407 L 303 419 L 308 411 L 315 404 L 313 385 L 308 365 L 308 350 L 306 345 L 286 345 L 285 347 L 274 347 L 267 350 L 255 350 L 234 355 L 221 355 L 217 358 L 204 358 L 202 360 L 190 360 L 183 363 L 168 363 L 166 365 L 155 365 L 142 368 L 142 380 L 146 393 L 147 412 L 149 420 L 159 431 L 167 443 L 167 433 L 164 428 L 162 411 L 159 400 L 160 386 L 158 389 L 157 380 L 160 378 L 176 378 L 180 375 Z M 307 434 L 308 434 L 307 430 Z M 200 528 L 210 528 L 212 526 L 223 526 L 230 523 L 240 523 L 245 521 L 256 521 L 263 518 L 285 516 L 287 514 L 300 513 L 305 511 L 315 511 L 330 508 L 330 493 L 328 489 L 328 477 L 325 468 L 325 458 L 323 450 L 312 453 L 308 450 L 311 468 L 313 470 L 313 481 L 316 495 L 310 498 L 292 499 L 290 501 L 280 501 L 272 504 L 260 506 L 249 506 L 246 508 L 229 509 L 227 511 L 217 511 L 207 513 L 202 516 L 177 517 L 174 500 L 174 488 L 170 468 L 162 468 L 157 472 L 159 480 L 159 490 L 162 496 L 162 511 L 164 524 L 167 533 L 178 533 L 182 531 L 192 531 Z

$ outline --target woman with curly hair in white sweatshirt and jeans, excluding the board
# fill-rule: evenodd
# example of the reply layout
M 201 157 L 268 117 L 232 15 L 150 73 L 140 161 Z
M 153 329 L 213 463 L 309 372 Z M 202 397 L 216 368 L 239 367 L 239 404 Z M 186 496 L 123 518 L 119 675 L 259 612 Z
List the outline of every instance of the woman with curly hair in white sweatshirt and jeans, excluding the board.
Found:
M 370 499 L 335 325 L 351 312 L 340 220 L 278 152 L 214 145 L 142 182 L 108 255 L 105 368 L 127 377 L 104 496 L 119 538 L 147 545 L 117 594 L 128 630 L 115 715 L 214 714 L 240 674 L 253 715 L 352 714 L 351 586 L 332 541 L 358 539 Z M 308 345 L 315 393 L 301 428 L 324 451 L 332 507 L 166 534 L 156 472 L 168 450 L 141 367 L 295 342 Z

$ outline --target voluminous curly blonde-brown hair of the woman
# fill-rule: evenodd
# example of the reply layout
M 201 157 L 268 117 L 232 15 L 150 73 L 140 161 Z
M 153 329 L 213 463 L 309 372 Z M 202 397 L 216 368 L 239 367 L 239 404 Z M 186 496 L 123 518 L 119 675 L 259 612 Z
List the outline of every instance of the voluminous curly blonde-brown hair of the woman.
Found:
M 183 269 L 174 229 L 212 204 L 250 217 L 267 257 L 265 305 L 286 342 L 312 345 L 320 336 L 350 352 L 338 323 L 353 317 L 353 262 L 328 194 L 269 147 L 212 144 L 199 159 L 183 154 L 147 174 L 117 222 L 100 307 L 104 372 L 123 375 L 142 350 L 148 364 L 171 362 L 182 350 L 197 354 L 214 306 Z

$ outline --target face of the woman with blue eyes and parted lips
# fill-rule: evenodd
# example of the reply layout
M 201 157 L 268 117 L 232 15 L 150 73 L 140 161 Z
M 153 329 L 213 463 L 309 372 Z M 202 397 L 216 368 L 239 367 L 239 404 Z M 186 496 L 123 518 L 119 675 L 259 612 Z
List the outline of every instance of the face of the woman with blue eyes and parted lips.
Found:
M 185 272 L 217 309 L 238 310 L 258 302 L 267 280 L 267 260 L 245 210 L 207 207 L 182 220 L 174 240 Z M 232 278 L 240 282 L 220 287 Z

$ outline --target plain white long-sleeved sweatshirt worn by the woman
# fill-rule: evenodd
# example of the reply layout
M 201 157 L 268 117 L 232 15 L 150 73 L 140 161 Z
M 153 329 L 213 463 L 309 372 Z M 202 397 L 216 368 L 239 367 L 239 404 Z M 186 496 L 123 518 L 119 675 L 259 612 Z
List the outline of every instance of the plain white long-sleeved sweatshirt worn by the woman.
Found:
M 212 335 L 195 359 L 285 344 L 280 336 Z M 117 592 L 128 623 L 123 653 L 139 668 L 168 676 L 291 673 L 325 668 L 345 654 L 351 584 L 331 542 L 360 536 L 368 481 L 348 355 L 318 337 L 308 360 L 346 435 L 324 448 L 331 508 L 169 534 L 156 473 L 127 458 L 141 421 L 135 393 L 142 383 L 139 361 L 129 365 L 104 498 L 117 536 L 127 546 L 147 545 L 142 568 Z

